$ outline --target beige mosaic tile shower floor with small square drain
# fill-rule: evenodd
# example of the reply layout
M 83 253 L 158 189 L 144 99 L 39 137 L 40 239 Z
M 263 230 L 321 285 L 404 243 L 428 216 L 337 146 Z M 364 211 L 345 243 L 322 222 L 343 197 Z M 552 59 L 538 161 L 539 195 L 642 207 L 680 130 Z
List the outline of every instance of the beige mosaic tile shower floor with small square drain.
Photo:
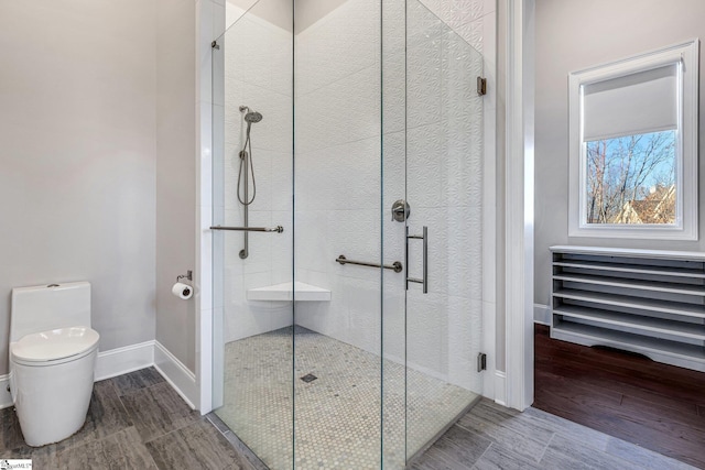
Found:
M 404 372 L 408 455 L 413 456 L 478 397 L 473 392 L 296 327 L 296 469 L 404 468 Z M 226 345 L 224 406 L 230 429 L 273 470 L 290 469 L 292 328 Z M 311 382 L 301 378 L 313 374 Z M 384 448 L 379 413 L 383 385 Z

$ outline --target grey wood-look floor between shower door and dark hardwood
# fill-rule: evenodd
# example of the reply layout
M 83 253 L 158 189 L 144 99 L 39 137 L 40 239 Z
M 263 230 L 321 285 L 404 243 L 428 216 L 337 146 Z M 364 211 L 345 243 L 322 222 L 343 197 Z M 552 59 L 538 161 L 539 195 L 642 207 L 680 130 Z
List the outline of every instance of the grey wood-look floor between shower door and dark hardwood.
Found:
M 693 470 L 693 467 L 533 407 L 484 398 L 411 470 Z

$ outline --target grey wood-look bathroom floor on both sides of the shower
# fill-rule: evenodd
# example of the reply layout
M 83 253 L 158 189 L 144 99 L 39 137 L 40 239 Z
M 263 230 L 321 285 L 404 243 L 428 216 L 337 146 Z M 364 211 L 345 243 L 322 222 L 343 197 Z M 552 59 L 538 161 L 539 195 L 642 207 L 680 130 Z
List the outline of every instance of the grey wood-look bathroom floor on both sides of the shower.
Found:
M 188 408 L 156 370 L 149 368 L 97 382 L 84 427 L 50 446 L 28 447 L 13 408 L 0 409 L 0 459 L 32 459 L 33 468 L 52 470 L 267 470 L 217 417 L 209 419 Z M 519 413 L 482 400 L 411 469 L 691 467 L 540 409 Z M 296 470 L 325 468 L 296 464 Z

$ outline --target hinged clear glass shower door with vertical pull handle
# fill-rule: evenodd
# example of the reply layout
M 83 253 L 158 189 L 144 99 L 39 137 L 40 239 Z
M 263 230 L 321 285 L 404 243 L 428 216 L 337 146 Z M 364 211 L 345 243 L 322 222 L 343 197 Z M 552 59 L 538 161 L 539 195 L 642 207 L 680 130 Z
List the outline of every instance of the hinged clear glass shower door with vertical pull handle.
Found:
M 406 458 L 482 390 L 482 57 L 406 2 Z

